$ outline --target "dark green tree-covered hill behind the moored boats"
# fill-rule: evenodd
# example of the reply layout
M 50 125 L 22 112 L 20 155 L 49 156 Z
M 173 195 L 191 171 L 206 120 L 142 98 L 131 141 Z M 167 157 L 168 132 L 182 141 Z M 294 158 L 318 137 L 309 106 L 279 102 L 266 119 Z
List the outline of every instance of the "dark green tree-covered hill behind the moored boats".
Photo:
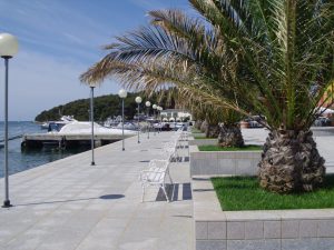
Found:
M 140 104 L 140 110 L 143 108 L 146 109 L 145 102 L 149 100 L 151 104 L 158 103 L 157 96 L 153 96 L 151 98 L 144 98 L 143 93 L 128 93 L 125 99 L 125 117 L 126 119 L 132 119 L 137 113 L 137 103 L 135 102 L 135 98 L 140 96 L 143 98 L 143 102 Z M 166 100 L 160 102 L 160 106 L 164 108 L 174 108 L 174 103 L 166 106 Z M 61 116 L 73 116 L 75 119 L 79 121 L 88 121 L 89 120 L 89 106 L 90 99 L 80 99 L 76 101 L 68 102 L 66 104 L 57 106 L 52 109 L 45 110 L 39 113 L 35 120 L 42 121 L 52 121 L 59 120 Z M 94 111 L 95 111 L 95 120 L 96 121 L 105 121 L 108 117 L 121 116 L 121 100 L 118 94 L 108 94 L 102 97 L 94 98 Z M 141 112 L 140 111 L 140 112 Z M 153 109 L 150 109 L 153 113 Z

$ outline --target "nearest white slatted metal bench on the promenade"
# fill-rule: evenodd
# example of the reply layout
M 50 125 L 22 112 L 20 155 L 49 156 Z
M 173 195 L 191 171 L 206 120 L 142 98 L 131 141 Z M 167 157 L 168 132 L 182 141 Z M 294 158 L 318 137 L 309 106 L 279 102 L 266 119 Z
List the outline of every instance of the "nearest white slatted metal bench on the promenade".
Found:
M 141 181 L 144 202 L 145 189 L 149 186 L 157 186 L 163 189 L 166 200 L 169 202 L 169 198 L 166 192 L 166 177 L 168 176 L 170 183 L 173 180 L 169 174 L 169 160 L 150 160 L 147 170 L 140 172 L 139 179 Z

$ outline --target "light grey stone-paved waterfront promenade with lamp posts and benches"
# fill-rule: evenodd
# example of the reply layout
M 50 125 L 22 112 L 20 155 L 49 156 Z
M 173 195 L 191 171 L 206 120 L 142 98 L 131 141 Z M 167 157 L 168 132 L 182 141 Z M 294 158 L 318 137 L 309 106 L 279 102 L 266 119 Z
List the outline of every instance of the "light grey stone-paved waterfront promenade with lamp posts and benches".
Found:
M 174 201 L 151 188 L 141 203 L 140 170 L 163 159 L 163 142 L 141 134 L 10 177 L 10 200 L 0 209 L 1 250 L 194 249 L 189 162 L 173 162 Z M 181 150 L 181 156 L 187 149 Z M 1 203 L 3 179 L 0 180 Z M 171 189 L 170 189 L 171 190 Z

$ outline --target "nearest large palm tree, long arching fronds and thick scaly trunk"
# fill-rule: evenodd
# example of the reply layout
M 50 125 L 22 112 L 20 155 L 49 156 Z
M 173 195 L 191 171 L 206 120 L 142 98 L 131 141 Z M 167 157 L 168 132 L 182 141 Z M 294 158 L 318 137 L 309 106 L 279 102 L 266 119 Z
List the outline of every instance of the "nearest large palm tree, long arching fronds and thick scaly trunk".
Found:
M 263 114 L 271 133 L 259 163 L 261 186 L 275 192 L 320 186 L 324 159 L 310 127 L 334 78 L 334 2 L 189 2 L 202 18 L 150 12 L 151 27 L 118 38 L 81 79 L 118 76 L 129 87 L 151 89 L 173 82 L 205 103 Z

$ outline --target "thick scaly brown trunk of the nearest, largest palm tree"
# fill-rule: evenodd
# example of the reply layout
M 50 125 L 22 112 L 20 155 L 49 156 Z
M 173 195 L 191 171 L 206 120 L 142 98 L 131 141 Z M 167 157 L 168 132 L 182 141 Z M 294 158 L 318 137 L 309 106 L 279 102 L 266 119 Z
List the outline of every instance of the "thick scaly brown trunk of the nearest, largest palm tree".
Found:
M 259 183 L 278 193 L 312 191 L 324 181 L 325 167 L 312 131 L 274 130 L 259 167 Z

